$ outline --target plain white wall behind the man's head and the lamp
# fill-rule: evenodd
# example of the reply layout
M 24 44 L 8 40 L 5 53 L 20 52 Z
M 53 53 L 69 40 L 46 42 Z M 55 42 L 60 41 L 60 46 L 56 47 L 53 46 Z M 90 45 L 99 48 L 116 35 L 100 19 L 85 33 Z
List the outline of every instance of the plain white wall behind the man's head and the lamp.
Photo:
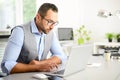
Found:
M 51 2 L 59 8 L 57 27 L 78 28 L 85 25 L 92 31 L 93 41 L 105 41 L 106 32 L 120 32 L 120 19 L 116 16 L 101 18 L 100 9 L 115 13 L 120 10 L 120 0 L 37 0 L 37 9 L 44 2 Z

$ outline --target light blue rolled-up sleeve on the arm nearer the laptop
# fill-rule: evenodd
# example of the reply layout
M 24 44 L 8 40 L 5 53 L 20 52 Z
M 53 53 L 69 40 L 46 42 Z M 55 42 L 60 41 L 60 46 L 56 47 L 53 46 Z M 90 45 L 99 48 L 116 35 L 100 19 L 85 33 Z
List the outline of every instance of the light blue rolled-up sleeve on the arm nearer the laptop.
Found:
M 62 64 L 64 64 L 66 62 L 67 56 L 63 52 L 62 47 L 60 46 L 60 43 L 59 43 L 55 33 L 53 36 L 53 41 L 52 41 L 52 46 L 51 46 L 50 51 L 51 51 L 53 56 L 57 56 L 61 59 Z

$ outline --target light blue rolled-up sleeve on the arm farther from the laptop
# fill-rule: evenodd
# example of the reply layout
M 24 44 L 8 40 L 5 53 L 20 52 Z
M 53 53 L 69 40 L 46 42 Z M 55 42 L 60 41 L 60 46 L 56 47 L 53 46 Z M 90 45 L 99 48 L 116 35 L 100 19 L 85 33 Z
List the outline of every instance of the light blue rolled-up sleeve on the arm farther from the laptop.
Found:
M 1 62 L 2 72 L 9 74 L 12 68 L 17 64 L 16 60 L 20 54 L 23 45 L 23 29 L 16 27 L 13 29 L 5 48 L 4 57 Z

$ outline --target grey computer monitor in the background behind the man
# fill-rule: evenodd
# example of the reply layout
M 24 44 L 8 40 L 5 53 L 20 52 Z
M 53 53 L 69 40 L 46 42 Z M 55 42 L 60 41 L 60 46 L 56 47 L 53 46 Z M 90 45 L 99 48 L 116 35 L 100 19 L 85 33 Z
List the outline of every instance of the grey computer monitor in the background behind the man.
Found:
M 58 28 L 58 39 L 59 41 L 73 41 L 73 28 Z

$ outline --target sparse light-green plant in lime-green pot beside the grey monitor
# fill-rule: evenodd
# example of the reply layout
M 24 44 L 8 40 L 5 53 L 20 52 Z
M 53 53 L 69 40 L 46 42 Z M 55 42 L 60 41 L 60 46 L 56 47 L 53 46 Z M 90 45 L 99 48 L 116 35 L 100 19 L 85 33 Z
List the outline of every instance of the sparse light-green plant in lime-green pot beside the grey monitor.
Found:
M 85 42 L 89 42 L 91 37 L 90 37 L 90 31 L 88 31 L 84 25 L 82 25 L 81 27 L 79 27 L 77 29 L 77 43 L 78 45 L 80 44 L 84 44 Z

